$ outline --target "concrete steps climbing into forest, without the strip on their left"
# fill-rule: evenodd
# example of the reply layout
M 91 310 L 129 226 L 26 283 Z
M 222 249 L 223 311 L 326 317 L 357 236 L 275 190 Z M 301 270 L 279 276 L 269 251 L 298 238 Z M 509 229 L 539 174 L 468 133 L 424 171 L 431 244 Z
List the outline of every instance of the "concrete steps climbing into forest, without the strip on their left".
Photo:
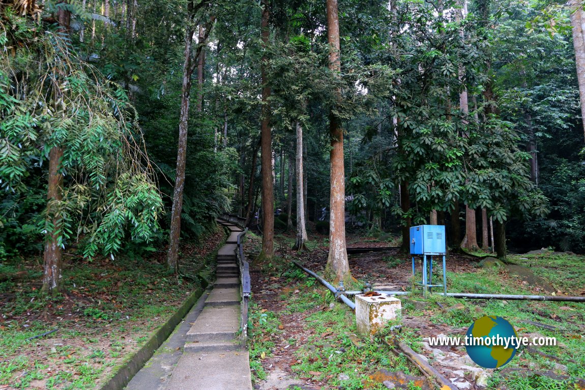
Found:
M 231 233 L 218 251 L 217 279 L 187 332 L 166 390 L 252 390 L 249 353 L 238 340 L 242 294 L 236 250 L 242 229 L 218 222 Z

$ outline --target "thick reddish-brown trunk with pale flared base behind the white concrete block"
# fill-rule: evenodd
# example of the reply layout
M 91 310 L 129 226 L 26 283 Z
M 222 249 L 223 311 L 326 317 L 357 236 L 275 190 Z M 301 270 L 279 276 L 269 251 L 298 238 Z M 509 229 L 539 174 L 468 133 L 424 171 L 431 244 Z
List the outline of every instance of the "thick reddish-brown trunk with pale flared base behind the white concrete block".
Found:
M 336 75 L 341 70 L 339 53 L 339 15 L 337 0 L 326 0 L 329 69 Z M 336 91 L 340 94 L 340 91 Z M 339 96 L 340 98 L 340 96 Z M 341 119 L 333 109 L 329 112 L 331 137 L 331 195 L 329 217 L 329 257 L 327 267 L 335 281 L 349 281 L 349 261 L 345 242 L 345 167 L 343 164 L 343 129 Z

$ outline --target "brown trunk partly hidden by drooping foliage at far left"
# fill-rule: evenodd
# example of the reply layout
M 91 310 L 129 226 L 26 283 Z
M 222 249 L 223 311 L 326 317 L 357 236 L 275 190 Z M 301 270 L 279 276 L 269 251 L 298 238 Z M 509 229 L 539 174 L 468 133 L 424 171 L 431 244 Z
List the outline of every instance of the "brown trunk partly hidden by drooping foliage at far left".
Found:
M 65 2 L 65 1 L 62 1 Z M 57 12 L 59 32 L 69 34 L 71 12 L 60 8 Z M 67 75 L 61 74 L 57 80 L 64 80 Z M 59 81 L 53 84 L 53 99 L 57 103 L 62 100 Z M 57 104 L 56 104 L 57 106 Z M 60 108 L 55 107 L 56 112 Z M 63 270 L 63 219 L 61 218 L 61 201 L 63 200 L 63 173 L 61 163 L 63 148 L 53 146 L 49 151 L 49 185 L 47 186 L 47 219 L 45 223 L 45 242 L 43 253 L 43 286 L 41 291 L 55 295 L 62 287 L 61 271 Z

